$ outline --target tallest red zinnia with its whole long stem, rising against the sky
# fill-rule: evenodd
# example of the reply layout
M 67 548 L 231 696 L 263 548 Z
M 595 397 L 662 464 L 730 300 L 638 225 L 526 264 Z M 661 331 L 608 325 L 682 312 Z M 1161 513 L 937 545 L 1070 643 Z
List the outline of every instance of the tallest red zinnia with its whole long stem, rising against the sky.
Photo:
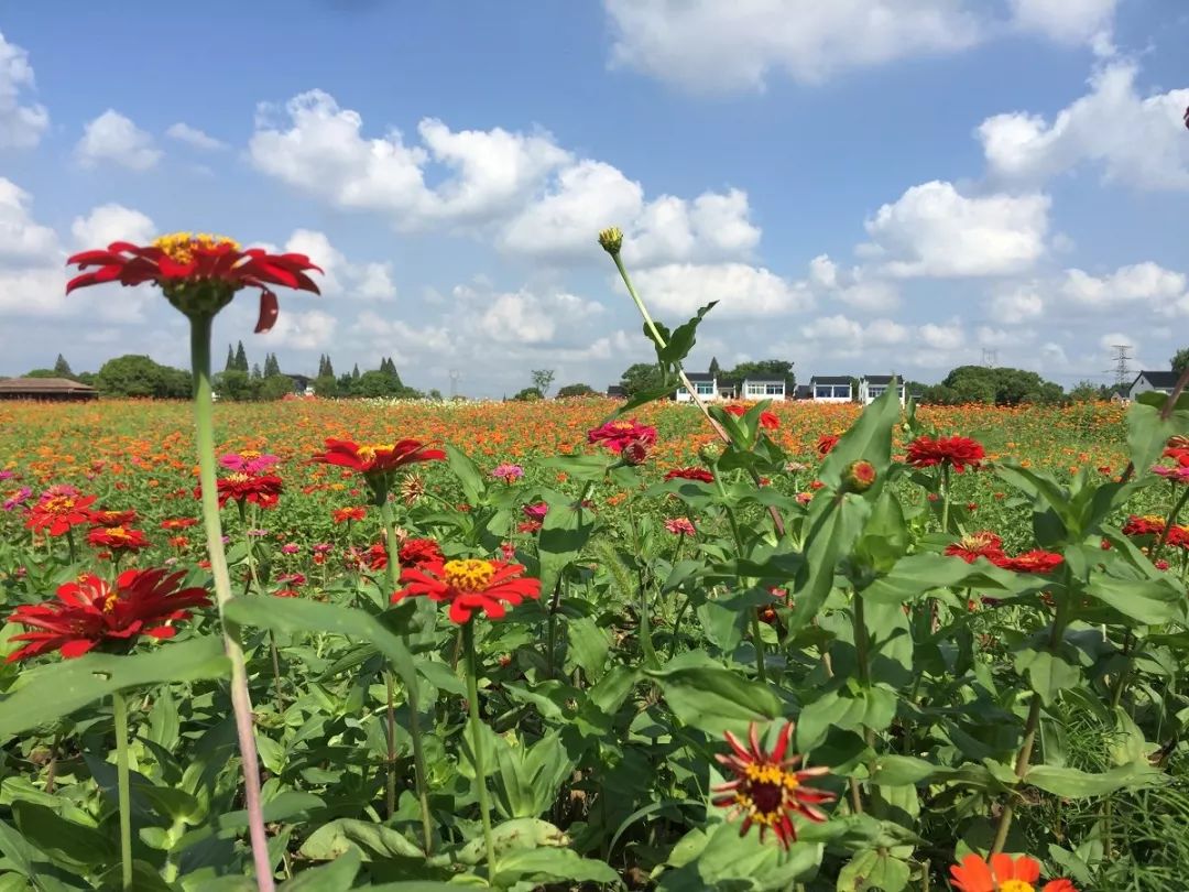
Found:
M 219 494 L 215 479 L 214 422 L 212 419 L 210 329 L 215 315 L 231 303 L 243 288 L 260 291 L 256 331 L 269 331 L 277 319 L 277 295 L 270 285 L 283 285 L 317 294 L 307 274 L 321 270 L 304 255 L 270 255 L 262 249 L 241 250 L 219 235 L 180 232 L 164 235 L 151 245 L 114 241 L 106 249 L 83 251 L 68 258 L 81 274 L 67 283 L 67 293 L 90 285 L 119 282 L 133 287 L 158 285 L 165 299 L 190 321 L 190 366 L 194 372 L 195 442 L 199 453 L 199 484 L 202 488 L 202 515 L 207 535 L 215 603 L 222 629 L 224 649 L 231 662 L 231 703 L 244 769 L 244 799 L 256 884 L 260 892 L 272 892 L 272 859 L 260 804 L 260 766 L 252 728 L 252 699 L 239 628 L 228 620 L 232 598 L 227 555 L 222 546 Z

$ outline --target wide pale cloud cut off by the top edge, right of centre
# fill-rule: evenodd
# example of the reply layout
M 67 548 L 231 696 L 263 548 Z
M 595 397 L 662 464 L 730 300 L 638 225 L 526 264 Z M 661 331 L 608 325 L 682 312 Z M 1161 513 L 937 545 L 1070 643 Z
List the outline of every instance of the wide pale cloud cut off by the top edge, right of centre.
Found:
M 604 0 L 611 62 L 699 92 L 762 89 L 770 71 L 816 83 L 976 43 L 964 0 Z

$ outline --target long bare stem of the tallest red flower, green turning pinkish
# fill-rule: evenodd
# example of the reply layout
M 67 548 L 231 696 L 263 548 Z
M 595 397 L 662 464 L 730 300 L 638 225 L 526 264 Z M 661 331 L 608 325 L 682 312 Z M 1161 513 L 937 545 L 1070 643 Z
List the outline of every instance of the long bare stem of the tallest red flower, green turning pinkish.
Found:
M 260 803 L 260 764 L 256 752 L 252 728 L 252 698 L 247 690 L 247 666 L 240 645 L 239 627 L 227 618 L 231 601 L 231 576 L 227 554 L 222 546 L 222 521 L 219 516 L 219 490 L 215 483 L 215 434 L 210 398 L 210 316 L 190 319 L 190 364 L 194 370 L 195 442 L 199 452 L 199 484 L 202 490 L 202 517 L 210 558 L 210 574 L 215 584 L 215 603 L 222 628 L 224 649 L 231 662 L 231 705 L 235 715 L 235 735 L 244 771 L 244 800 L 247 811 L 252 861 L 256 866 L 256 886 L 259 892 L 272 892 L 272 859 L 269 837 L 264 829 Z

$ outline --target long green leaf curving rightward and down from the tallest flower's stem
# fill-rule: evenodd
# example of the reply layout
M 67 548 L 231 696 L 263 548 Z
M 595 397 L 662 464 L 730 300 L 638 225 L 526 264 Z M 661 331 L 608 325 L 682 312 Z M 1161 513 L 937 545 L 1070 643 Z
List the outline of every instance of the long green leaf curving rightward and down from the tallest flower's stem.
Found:
M 228 602 L 226 613 L 232 622 L 259 626 L 273 632 L 312 632 L 344 635 L 348 640 L 371 641 L 383 653 L 404 684 L 417 684 L 413 654 L 398 635 L 363 610 L 334 604 L 321 604 L 304 598 L 243 597 Z

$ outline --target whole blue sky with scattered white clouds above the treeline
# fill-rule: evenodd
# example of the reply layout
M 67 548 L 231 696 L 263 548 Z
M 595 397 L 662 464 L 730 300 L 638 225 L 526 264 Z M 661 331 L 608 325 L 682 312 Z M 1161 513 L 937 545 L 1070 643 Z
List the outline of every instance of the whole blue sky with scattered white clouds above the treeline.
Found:
M 690 368 L 1063 384 L 1189 343 L 1189 7 L 1174 0 L 0 1 L 0 373 L 146 352 L 152 293 L 64 257 L 209 230 L 309 253 L 287 371 L 597 388 L 709 300 Z

